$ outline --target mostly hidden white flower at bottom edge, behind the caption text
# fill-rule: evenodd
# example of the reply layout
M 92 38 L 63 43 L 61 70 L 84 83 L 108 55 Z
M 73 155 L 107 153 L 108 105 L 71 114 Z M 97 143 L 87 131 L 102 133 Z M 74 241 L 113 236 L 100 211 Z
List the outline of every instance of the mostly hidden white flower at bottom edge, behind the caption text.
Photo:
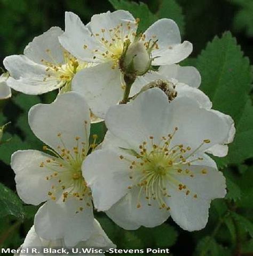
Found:
M 28 255 L 48 255 L 49 253 L 43 253 L 43 249 L 67 249 L 67 246 L 63 239 L 58 240 L 45 240 L 37 235 L 35 232 L 34 226 L 31 227 L 29 232 L 27 233 L 27 236 L 25 238 L 25 241 L 20 246 L 20 249 L 28 250 L 29 253 L 17 253 L 15 255 L 19 256 L 28 256 Z M 89 250 L 89 249 L 102 249 L 102 250 L 108 250 L 110 248 L 115 248 L 115 245 L 113 242 L 107 237 L 105 234 L 105 231 L 101 228 L 99 222 L 97 220 L 94 220 L 94 230 L 88 240 L 82 240 L 78 242 L 76 246 L 74 246 L 75 250 L 80 251 L 78 255 L 85 255 L 90 256 L 94 255 L 92 253 L 83 253 L 83 250 Z M 39 253 L 31 253 L 31 249 L 37 249 Z M 61 253 L 52 253 L 53 255 L 62 255 Z M 50 255 L 52 255 L 50 254 Z M 68 255 L 75 255 L 76 253 L 72 253 L 71 250 Z M 96 254 L 96 255 L 105 255 L 104 253 Z

